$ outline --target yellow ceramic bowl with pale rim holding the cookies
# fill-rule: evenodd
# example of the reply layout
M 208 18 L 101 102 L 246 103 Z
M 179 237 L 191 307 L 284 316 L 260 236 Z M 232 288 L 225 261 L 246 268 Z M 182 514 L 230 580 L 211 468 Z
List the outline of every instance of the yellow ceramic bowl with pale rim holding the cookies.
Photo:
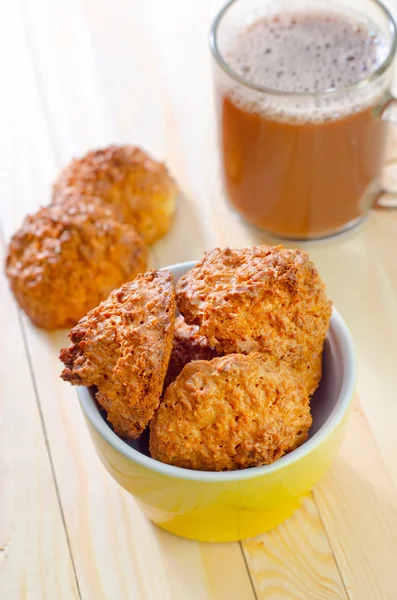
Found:
M 178 280 L 194 263 L 169 267 Z M 349 331 L 334 309 L 325 342 L 323 377 L 312 399 L 310 438 L 271 465 L 223 473 L 165 465 L 148 454 L 146 434 L 127 444 L 107 424 L 94 392 L 78 396 L 97 453 L 109 473 L 154 523 L 182 537 L 229 542 L 287 519 L 324 475 L 341 444 L 356 381 Z

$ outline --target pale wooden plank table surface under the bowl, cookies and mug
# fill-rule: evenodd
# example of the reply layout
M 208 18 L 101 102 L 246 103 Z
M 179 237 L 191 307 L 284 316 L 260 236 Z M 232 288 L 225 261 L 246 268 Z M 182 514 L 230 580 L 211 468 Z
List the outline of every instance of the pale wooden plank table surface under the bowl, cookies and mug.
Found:
M 207 49 L 220 4 L 6 3 L 3 253 L 25 213 L 49 202 L 58 170 L 112 142 L 166 160 L 183 191 L 157 266 L 268 241 L 224 204 Z M 395 158 L 391 144 L 391 172 Z M 1 600 L 396 600 L 396 249 L 397 214 L 386 211 L 309 246 L 356 341 L 358 399 L 339 458 L 303 507 L 241 544 L 185 541 L 143 517 L 99 463 L 75 390 L 59 379 L 66 333 L 35 329 L 2 274 Z

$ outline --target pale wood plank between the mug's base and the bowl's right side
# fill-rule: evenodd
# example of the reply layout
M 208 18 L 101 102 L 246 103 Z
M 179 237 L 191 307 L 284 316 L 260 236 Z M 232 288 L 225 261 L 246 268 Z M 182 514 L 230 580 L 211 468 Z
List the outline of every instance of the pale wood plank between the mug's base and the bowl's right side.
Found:
M 397 486 L 396 227 L 397 214 L 373 214 L 361 231 L 309 251 L 352 332 L 358 395 Z

